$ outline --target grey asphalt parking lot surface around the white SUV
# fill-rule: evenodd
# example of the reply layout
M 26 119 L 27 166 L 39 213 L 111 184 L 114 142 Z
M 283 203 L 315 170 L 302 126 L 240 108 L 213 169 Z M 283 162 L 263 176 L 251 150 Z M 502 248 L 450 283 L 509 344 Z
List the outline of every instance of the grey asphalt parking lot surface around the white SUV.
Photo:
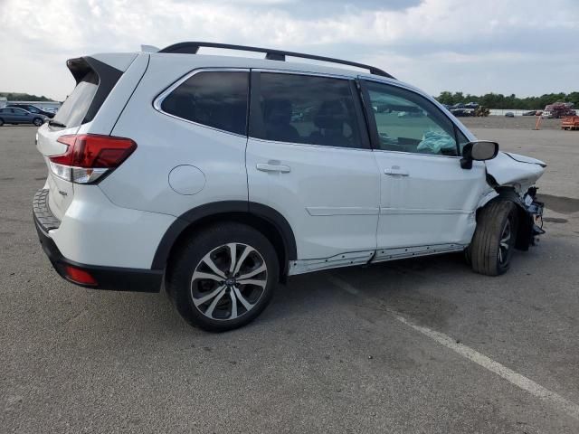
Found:
M 0 127 L 0 432 L 579 432 L 579 132 L 500 121 L 473 132 L 549 165 L 547 234 L 507 275 L 444 255 L 298 276 L 222 335 L 59 278 L 35 128 Z

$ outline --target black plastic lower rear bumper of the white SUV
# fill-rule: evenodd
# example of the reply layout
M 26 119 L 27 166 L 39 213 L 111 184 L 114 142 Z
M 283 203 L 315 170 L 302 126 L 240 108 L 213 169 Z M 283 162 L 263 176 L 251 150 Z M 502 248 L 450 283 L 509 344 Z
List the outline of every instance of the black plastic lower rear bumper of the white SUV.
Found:
M 43 246 L 44 253 L 52 263 L 52 267 L 64 279 L 84 288 L 110 289 L 117 291 L 159 292 L 163 281 L 163 270 L 152 269 L 128 269 L 121 267 L 103 267 L 81 264 L 65 258 L 61 250 L 49 235 L 54 224 L 54 217 L 47 205 L 43 205 L 43 190 L 34 196 L 33 216 L 38 238 Z M 46 203 L 44 201 L 44 203 Z M 68 266 L 81 269 L 90 274 L 97 281 L 96 285 L 85 285 L 69 278 L 66 273 Z

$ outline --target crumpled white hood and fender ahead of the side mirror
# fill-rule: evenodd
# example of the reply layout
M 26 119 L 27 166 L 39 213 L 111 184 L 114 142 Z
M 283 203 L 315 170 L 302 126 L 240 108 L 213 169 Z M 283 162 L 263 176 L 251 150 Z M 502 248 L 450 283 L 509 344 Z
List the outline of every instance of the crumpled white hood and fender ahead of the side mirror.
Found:
M 519 156 L 510 152 L 499 152 L 492 160 L 485 162 L 487 173 L 498 185 L 519 184 L 522 190 L 536 183 L 545 172 L 546 164 L 530 156 Z

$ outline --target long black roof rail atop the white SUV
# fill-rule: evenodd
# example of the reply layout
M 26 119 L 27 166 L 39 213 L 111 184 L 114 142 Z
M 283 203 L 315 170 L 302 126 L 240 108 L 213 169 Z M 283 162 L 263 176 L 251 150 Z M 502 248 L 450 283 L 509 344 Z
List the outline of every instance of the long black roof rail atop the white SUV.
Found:
M 243 52 L 265 52 L 265 58 L 270 61 L 285 61 L 286 56 L 299 57 L 302 59 L 311 59 L 313 61 L 327 61 L 331 63 L 341 63 L 348 66 L 356 66 L 356 68 L 362 68 L 364 70 L 370 71 L 371 74 L 381 75 L 383 77 L 388 77 L 389 79 L 394 79 L 386 71 L 382 71 L 374 66 L 365 65 L 364 63 L 357 63 L 356 61 L 342 61 L 340 59 L 334 59 L 331 57 L 317 56 L 314 54 L 304 54 L 302 52 L 286 52 L 284 50 L 273 50 L 270 48 L 260 48 L 260 47 L 250 47 L 247 45 L 234 45 L 232 43 L 217 43 L 217 42 L 179 42 L 174 43 L 165 47 L 163 50 L 158 52 L 173 52 L 182 54 L 196 54 L 200 47 L 212 47 L 212 48 L 223 48 L 227 50 L 240 50 Z

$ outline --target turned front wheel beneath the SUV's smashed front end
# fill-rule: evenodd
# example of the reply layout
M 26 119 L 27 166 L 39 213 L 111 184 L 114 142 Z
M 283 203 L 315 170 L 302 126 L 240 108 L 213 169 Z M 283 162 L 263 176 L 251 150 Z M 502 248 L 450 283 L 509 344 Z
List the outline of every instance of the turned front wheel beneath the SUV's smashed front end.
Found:
M 510 267 L 517 240 L 517 205 L 496 201 L 485 206 L 467 251 L 472 269 L 487 276 L 498 276 Z

